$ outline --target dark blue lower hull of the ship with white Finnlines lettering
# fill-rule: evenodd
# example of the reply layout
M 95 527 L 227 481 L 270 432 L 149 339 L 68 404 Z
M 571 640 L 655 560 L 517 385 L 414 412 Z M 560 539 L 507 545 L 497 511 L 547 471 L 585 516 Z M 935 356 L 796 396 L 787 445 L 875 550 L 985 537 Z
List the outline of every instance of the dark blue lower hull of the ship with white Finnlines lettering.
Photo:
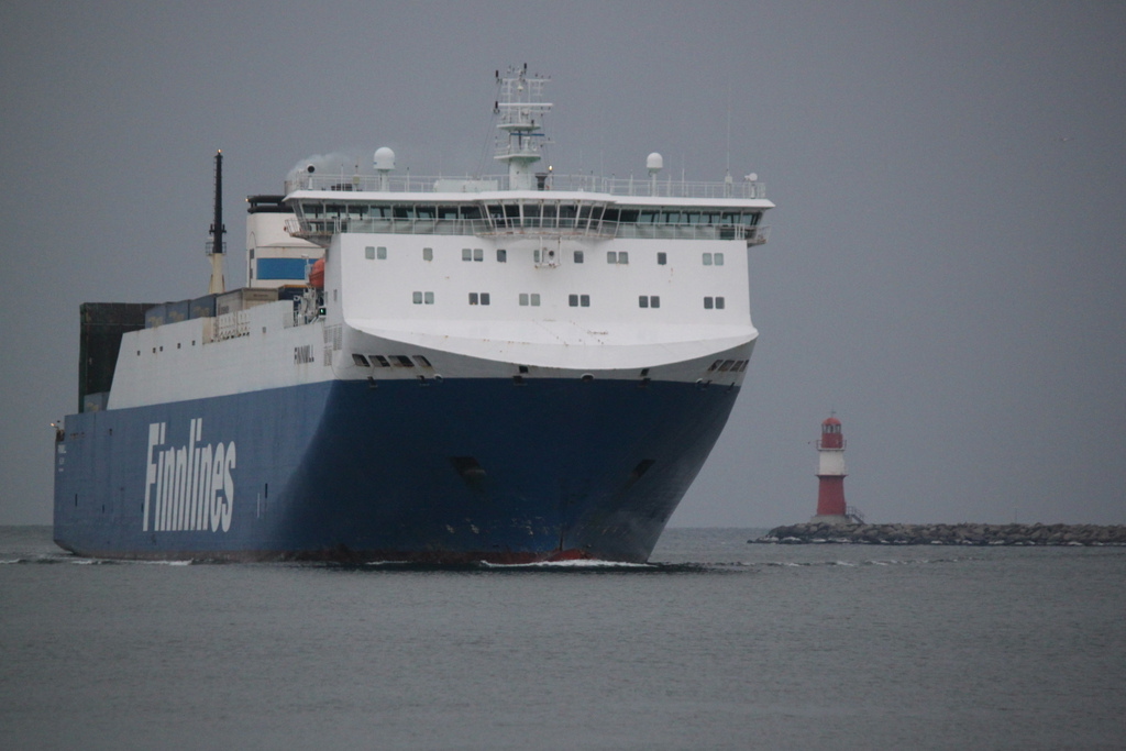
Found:
M 135 558 L 644 562 L 738 392 L 332 381 L 73 414 L 55 542 Z

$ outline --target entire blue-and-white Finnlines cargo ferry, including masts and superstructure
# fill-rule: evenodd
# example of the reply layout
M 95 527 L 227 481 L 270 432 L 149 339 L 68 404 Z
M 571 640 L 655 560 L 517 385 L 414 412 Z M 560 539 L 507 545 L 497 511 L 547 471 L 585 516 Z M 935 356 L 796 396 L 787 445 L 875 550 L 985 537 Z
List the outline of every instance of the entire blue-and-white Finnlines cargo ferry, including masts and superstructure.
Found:
M 82 306 L 55 539 L 138 558 L 645 561 L 758 332 L 742 181 L 537 172 L 546 78 L 497 77 L 507 175 L 249 198 L 248 287 Z M 426 188 L 420 189 L 420 188 Z

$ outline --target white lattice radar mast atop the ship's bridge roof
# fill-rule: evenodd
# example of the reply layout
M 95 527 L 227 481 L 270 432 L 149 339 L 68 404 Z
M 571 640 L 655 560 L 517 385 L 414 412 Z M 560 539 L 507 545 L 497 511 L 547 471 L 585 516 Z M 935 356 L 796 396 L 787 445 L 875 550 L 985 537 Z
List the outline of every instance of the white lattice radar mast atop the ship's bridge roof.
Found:
M 547 140 L 543 131 L 543 116 L 551 110 L 551 102 L 543 101 L 547 77 L 528 77 L 528 65 L 512 69 L 501 77 L 500 98 L 495 111 L 500 116 L 497 129 L 507 138 L 498 137 L 494 159 L 508 162 L 508 181 L 511 190 L 535 190 L 536 176 L 533 164 L 539 161 L 540 149 Z

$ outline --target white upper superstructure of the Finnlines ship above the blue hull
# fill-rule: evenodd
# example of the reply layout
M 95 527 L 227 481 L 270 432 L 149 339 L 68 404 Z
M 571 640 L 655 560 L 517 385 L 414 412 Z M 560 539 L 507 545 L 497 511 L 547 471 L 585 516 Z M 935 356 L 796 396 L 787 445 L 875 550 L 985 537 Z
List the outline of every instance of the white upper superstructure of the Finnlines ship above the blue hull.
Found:
M 251 286 L 303 292 L 126 334 L 109 406 L 323 379 L 740 383 L 762 185 L 661 180 L 655 153 L 646 180 L 537 173 L 546 80 L 499 77 L 507 176 L 399 177 L 379 149 L 374 176 L 251 197 Z

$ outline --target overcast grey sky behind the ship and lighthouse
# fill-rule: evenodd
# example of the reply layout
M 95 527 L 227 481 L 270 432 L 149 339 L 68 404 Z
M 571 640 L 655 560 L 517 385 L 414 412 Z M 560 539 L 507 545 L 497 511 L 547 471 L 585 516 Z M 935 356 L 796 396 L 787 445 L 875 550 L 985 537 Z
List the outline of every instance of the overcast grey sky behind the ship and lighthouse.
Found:
M 671 524 L 814 511 L 835 410 L 876 521 L 1126 522 L 1126 3 L 0 6 L 0 524 L 48 524 L 82 302 L 206 292 L 212 157 L 481 169 L 492 73 L 551 74 L 560 173 L 757 171 L 761 336 Z M 490 166 L 491 169 L 491 166 Z

